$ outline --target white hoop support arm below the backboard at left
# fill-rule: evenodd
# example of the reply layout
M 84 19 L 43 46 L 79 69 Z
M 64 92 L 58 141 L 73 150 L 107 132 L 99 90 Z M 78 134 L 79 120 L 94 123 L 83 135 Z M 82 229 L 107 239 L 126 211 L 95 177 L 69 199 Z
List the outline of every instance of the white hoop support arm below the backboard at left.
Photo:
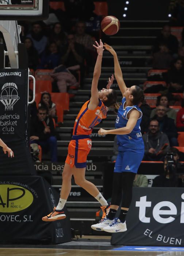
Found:
M 7 52 L 4 51 L 4 56 L 9 56 L 11 68 L 19 68 L 18 43 L 21 42 L 21 26 L 17 24 L 16 20 L 0 20 L 0 31 L 3 33 L 4 41 L 7 47 Z

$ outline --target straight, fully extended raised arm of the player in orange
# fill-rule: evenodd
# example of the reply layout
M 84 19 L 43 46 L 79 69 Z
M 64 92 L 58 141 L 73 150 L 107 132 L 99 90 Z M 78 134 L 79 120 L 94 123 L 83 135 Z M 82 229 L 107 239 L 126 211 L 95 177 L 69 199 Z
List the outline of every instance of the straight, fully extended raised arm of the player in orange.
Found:
M 97 45 L 97 46 L 96 46 Z M 101 74 L 101 61 L 103 57 L 103 42 L 100 39 L 100 45 L 96 41 L 96 45 L 93 45 L 98 53 L 94 72 L 93 72 L 93 80 L 91 85 L 91 99 L 88 105 L 89 109 L 95 109 L 99 105 L 99 92 L 98 92 L 98 81 Z

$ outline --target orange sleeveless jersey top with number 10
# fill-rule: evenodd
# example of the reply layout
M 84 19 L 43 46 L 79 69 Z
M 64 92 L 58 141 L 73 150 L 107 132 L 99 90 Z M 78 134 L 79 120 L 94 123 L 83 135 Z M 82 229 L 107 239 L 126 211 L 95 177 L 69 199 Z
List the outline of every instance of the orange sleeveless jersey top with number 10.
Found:
M 102 101 L 94 110 L 88 109 L 89 101 L 82 106 L 73 127 L 73 135 L 90 135 L 93 127 L 107 117 L 107 109 Z

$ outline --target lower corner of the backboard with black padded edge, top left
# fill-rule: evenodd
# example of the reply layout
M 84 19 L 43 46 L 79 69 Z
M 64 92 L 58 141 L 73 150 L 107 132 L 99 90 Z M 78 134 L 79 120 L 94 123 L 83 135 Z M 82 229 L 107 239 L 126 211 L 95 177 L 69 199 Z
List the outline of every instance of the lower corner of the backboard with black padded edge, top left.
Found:
M 49 16 L 49 0 L 0 0 L 0 20 L 43 20 Z

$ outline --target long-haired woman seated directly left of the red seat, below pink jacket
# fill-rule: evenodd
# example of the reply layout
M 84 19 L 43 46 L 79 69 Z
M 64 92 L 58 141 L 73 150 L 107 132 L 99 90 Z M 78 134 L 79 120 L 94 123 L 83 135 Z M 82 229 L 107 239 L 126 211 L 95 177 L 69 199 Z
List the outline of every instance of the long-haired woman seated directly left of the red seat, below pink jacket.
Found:
M 47 109 L 49 117 L 53 118 L 56 116 L 55 103 L 52 102 L 51 95 L 48 92 L 43 92 L 38 107 Z

